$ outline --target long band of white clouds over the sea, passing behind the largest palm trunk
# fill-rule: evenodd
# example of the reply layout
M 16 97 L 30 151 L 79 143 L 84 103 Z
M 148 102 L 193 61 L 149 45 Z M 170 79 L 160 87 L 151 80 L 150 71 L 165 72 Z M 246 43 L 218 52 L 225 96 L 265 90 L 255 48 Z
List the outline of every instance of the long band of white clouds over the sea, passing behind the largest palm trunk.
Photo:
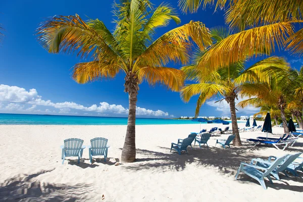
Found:
M 87 112 L 96 112 L 96 113 L 112 113 L 112 114 L 124 114 L 128 113 L 128 109 L 124 108 L 122 105 L 110 105 L 106 102 L 101 102 L 99 105 L 92 105 L 90 107 L 85 107 L 83 105 L 74 103 L 74 102 L 63 102 L 63 103 L 53 103 L 51 100 L 44 100 L 38 94 L 36 89 L 30 89 L 27 91 L 24 88 L 20 88 L 18 86 L 9 86 L 9 85 L 0 85 L 0 102 L 7 102 L 10 103 L 10 106 L 7 106 L 6 109 L 12 110 L 22 110 L 22 106 L 17 106 L 19 104 L 29 104 L 32 105 L 25 111 L 31 112 L 37 106 L 44 106 L 44 107 L 54 107 L 59 109 L 60 114 L 75 114 L 76 112 L 72 112 L 71 110 L 80 110 L 80 111 L 87 111 Z M 16 104 L 16 105 L 13 105 Z M 24 107 L 24 106 L 23 106 Z M 167 112 L 163 112 L 161 110 L 153 111 L 148 110 L 145 108 L 136 108 L 137 115 L 141 116 L 156 116 L 156 117 L 167 117 L 169 114 Z M 34 112 L 42 112 L 35 110 Z M 46 111 L 45 111 L 46 112 Z M 49 112 L 49 111 L 47 111 Z

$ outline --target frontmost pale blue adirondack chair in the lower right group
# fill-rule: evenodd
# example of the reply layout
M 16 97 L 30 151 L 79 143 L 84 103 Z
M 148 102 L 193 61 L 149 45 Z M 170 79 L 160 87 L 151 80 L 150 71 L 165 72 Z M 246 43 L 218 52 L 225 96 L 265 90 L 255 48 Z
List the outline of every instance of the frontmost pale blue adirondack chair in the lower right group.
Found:
M 277 168 L 277 166 L 279 166 L 284 161 L 284 159 L 286 157 L 287 157 L 287 155 L 276 159 L 268 168 L 241 162 L 238 172 L 236 174 L 236 180 L 238 179 L 239 173 L 243 172 L 244 174 L 248 175 L 249 177 L 257 180 L 263 186 L 264 189 L 267 189 L 265 182 L 264 182 L 264 178 L 267 177 L 269 179 L 269 181 L 273 184 L 270 174 L 273 170 L 275 170 Z

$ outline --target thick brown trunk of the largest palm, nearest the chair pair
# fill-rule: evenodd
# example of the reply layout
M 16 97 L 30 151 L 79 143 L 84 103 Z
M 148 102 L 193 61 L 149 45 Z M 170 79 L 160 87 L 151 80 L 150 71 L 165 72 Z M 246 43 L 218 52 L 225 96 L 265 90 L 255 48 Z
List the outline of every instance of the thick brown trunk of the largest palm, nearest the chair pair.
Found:
M 128 73 L 125 77 L 124 86 L 124 91 L 128 92 L 129 111 L 121 161 L 130 163 L 136 159 L 136 105 L 139 90 L 137 76 L 133 73 Z

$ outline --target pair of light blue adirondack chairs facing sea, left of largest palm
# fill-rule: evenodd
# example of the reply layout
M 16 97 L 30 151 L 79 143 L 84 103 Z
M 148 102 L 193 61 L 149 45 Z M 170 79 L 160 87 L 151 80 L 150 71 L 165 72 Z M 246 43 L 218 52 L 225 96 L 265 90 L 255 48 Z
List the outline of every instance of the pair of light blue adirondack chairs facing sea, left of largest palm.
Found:
M 83 155 L 83 149 L 86 146 L 83 146 L 83 140 L 78 138 L 70 138 L 64 140 L 64 145 L 62 148 L 62 164 L 64 164 L 65 157 L 78 157 L 78 164 L 80 163 L 80 158 Z M 104 162 L 106 162 L 106 158 L 108 155 L 109 145 L 107 144 L 108 139 L 103 137 L 96 137 L 90 140 L 90 144 L 88 146 L 88 155 L 90 159 L 90 163 L 92 163 L 93 156 L 104 156 Z

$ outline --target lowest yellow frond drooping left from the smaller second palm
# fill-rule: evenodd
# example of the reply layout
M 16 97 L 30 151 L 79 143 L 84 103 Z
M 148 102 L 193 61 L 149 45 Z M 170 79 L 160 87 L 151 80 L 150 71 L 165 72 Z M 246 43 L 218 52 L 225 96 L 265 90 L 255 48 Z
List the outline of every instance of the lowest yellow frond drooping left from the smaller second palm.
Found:
M 220 85 L 220 84 L 214 84 L 214 83 L 195 83 L 195 84 L 189 84 L 185 86 L 181 90 L 181 98 L 184 100 L 184 102 L 189 102 L 189 99 L 197 94 L 200 94 L 200 103 L 204 104 L 206 100 L 210 99 L 216 94 L 226 94 L 230 92 L 230 88 Z

